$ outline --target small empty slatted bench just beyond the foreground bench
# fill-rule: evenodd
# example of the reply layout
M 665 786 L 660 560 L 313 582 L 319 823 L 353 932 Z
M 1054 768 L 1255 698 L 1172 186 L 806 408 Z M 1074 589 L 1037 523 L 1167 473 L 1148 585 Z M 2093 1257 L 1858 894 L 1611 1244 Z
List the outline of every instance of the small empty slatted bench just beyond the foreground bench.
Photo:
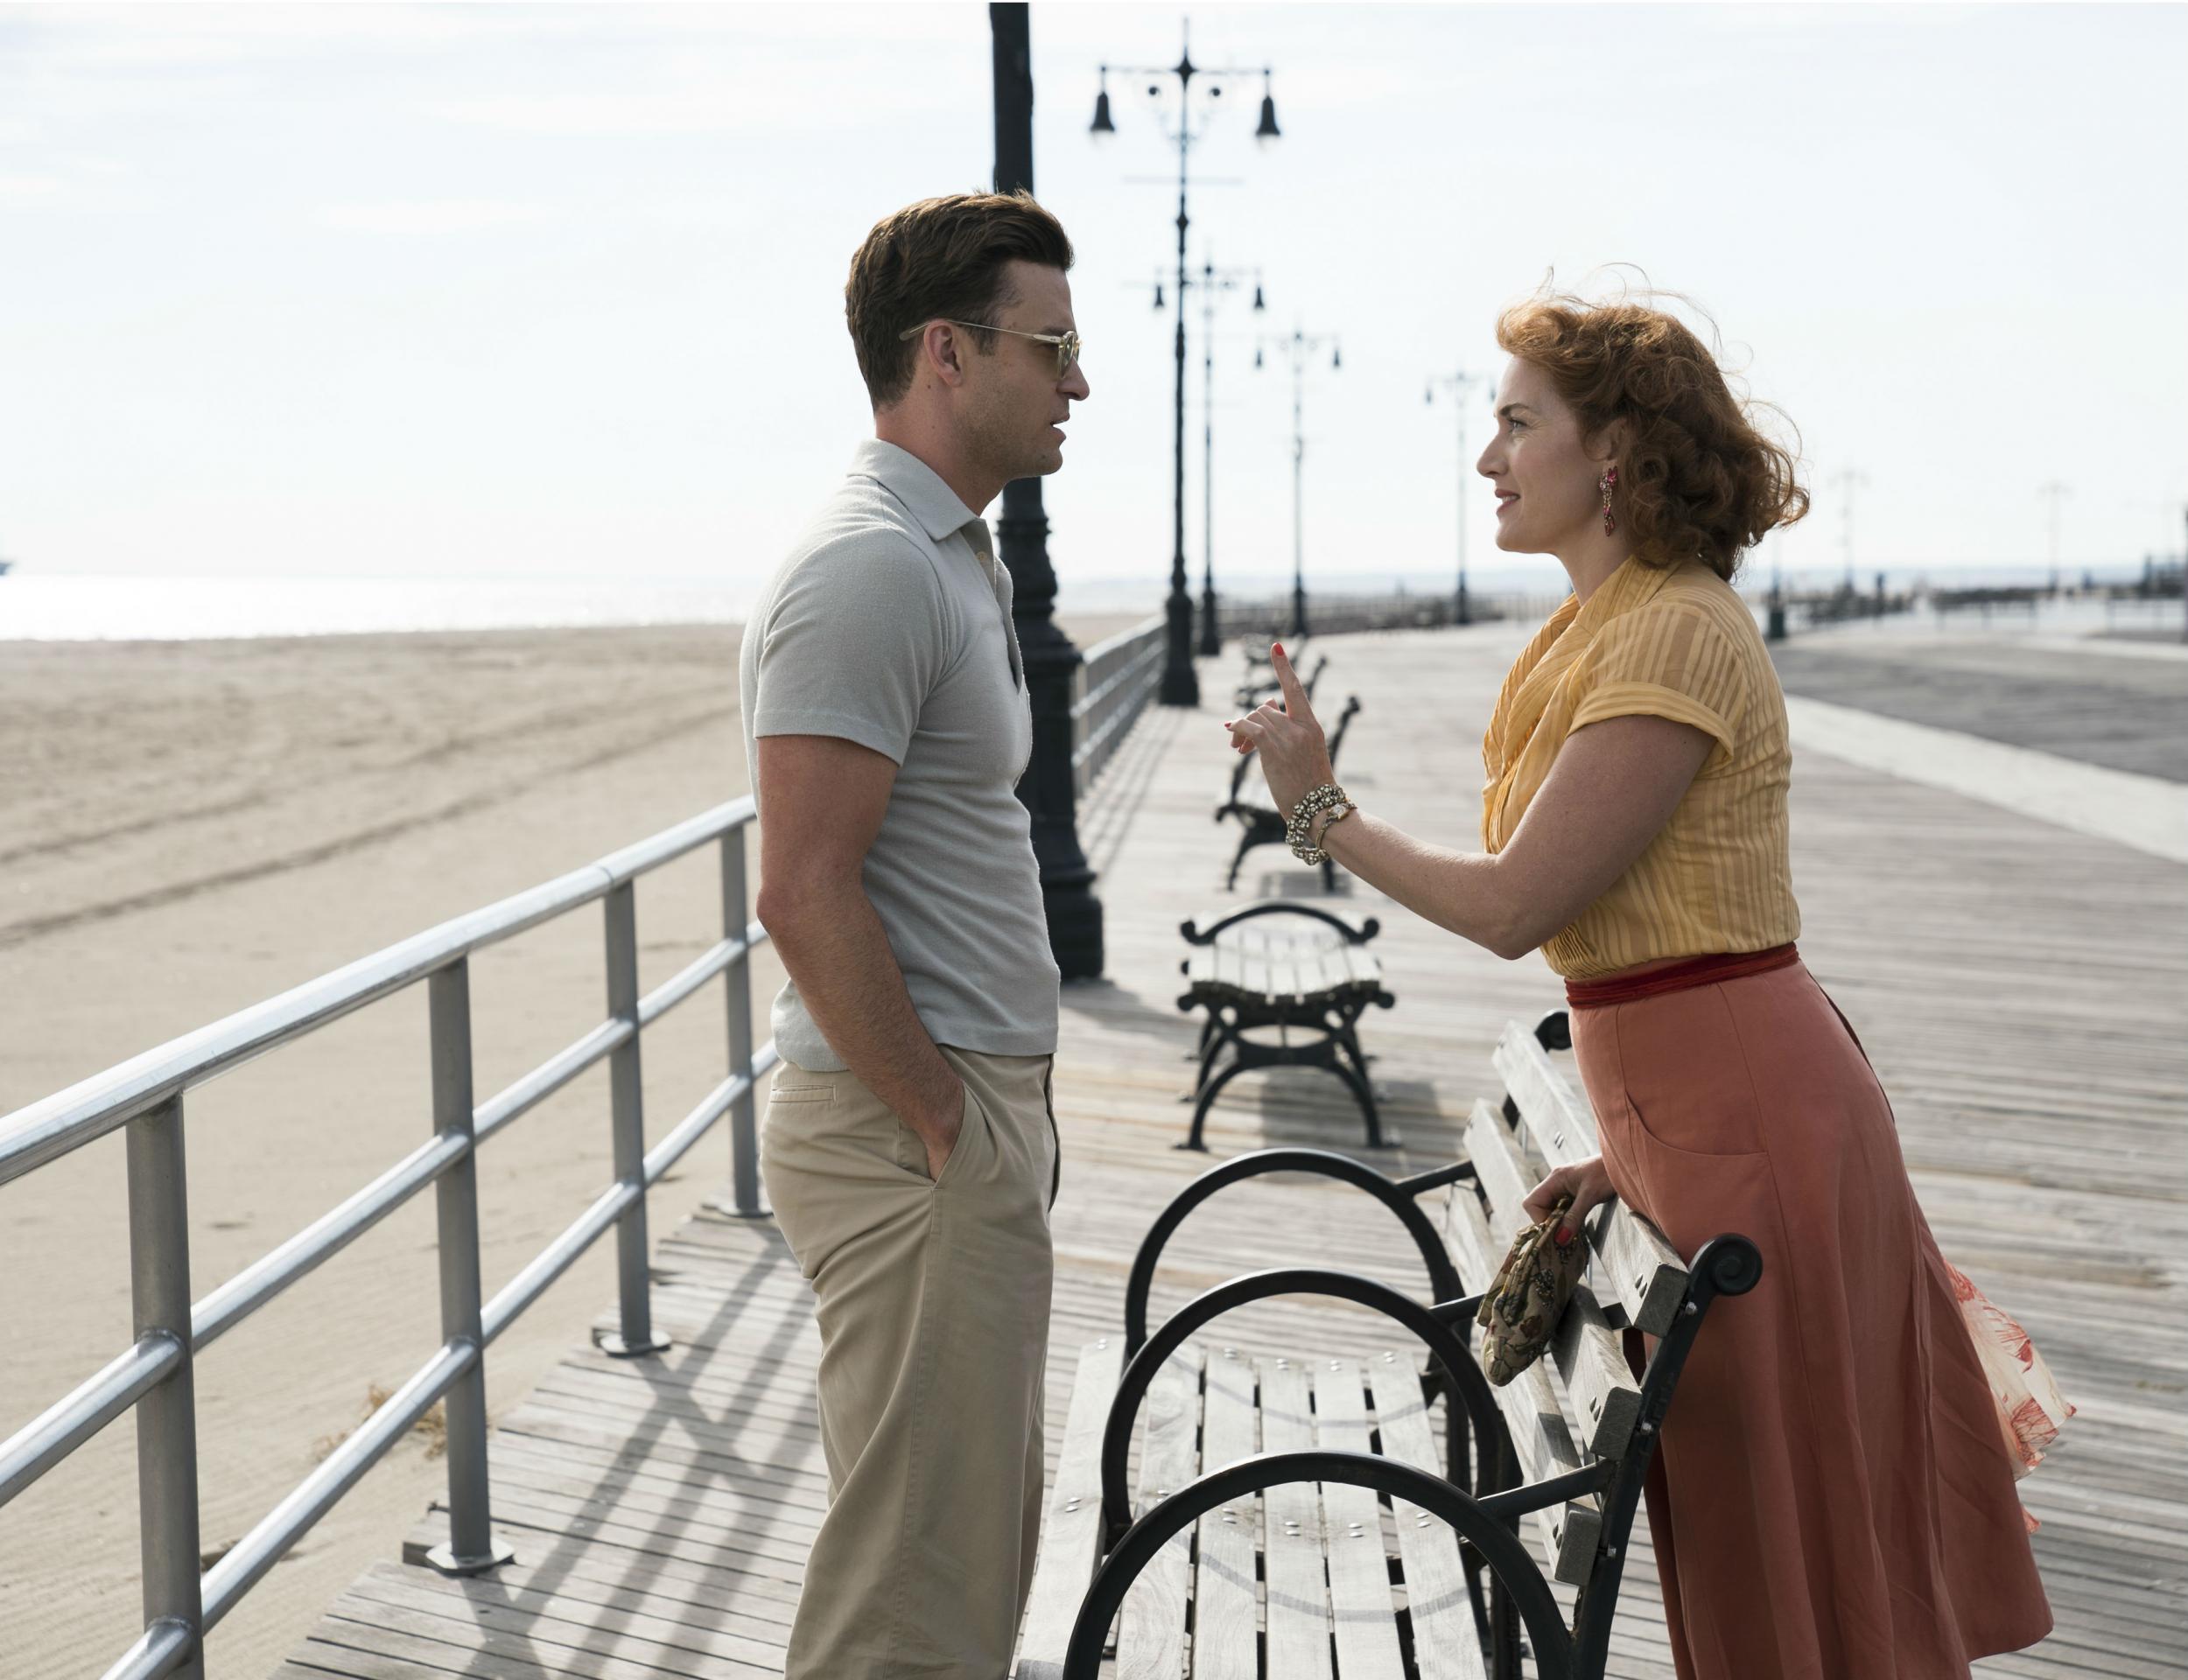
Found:
M 1269 917 L 1291 921 L 1269 928 Z M 1219 917 L 1206 932 L 1197 921 L 1179 923 L 1179 932 L 1195 949 L 1177 965 L 1186 976 L 1177 1006 L 1208 1011 L 1192 1081 L 1192 1129 L 1179 1148 L 1206 1148 L 1201 1129 L 1217 1094 L 1254 1068 L 1326 1068 L 1359 1102 L 1368 1148 L 1398 1142 L 1383 1135 L 1359 1041 L 1368 1006 L 1398 1002 L 1383 989 L 1383 965 L 1368 949 L 1381 932 L 1374 917 L 1354 928 L 1311 903 L 1260 899 Z M 1269 1030 L 1276 1043 L 1247 1037 Z

